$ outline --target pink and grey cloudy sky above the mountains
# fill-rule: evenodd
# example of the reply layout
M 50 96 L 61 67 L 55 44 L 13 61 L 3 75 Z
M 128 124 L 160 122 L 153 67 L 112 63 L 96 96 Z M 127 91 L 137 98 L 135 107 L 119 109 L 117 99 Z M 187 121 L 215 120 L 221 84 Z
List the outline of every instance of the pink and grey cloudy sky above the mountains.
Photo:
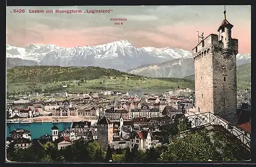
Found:
M 25 9 L 14 13 L 14 9 Z M 46 10 L 53 13 L 46 13 Z M 82 13 L 55 13 L 82 10 Z M 110 13 L 84 13 L 89 10 Z M 29 13 L 44 10 L 45 13 Z M 191 51 L 197 34 L 218 34 L 224 6 L 69 6 L 8 7 L 7 43 L 15 46 L 55 44 L 62 47 L 96 46 L 128 40 L 136 47 L 171 47 Z M 126 21 L 111 21 L 126 18 Z M 234 26 L 232 38 L 239 40 L 239 53 L 251 53 L 251 7 L 226 6 L 226 18 Z M 123 22 L 123 25 L 115 25 Z

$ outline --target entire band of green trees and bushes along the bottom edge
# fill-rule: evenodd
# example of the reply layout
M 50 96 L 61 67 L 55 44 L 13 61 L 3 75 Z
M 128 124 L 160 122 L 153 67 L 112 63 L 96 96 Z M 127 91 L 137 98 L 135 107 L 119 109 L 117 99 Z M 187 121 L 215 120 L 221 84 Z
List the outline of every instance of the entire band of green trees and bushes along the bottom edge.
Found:
M 157 162 L 157 161 L 232 161 L 248 160 L 250 152 L 243 146 L 237 147 L 219 132 L 197 130 L 175 135 L 169 144 L 139 150 L 135 145 L 120 151 L 108 147 L 106 156 L 97 141 L 79 139 L 73 145 L 57 150 L 52 142 L 43 147 L 33 144 L 30 148 L 16 149 L 10 144 L 7 159 L 17 162 Z M 114 153 L 115 152 L 115 153 Z M 117 154 L 121 153 L 121 154 Z M 110 158 L 112 156 L 112 158 Z

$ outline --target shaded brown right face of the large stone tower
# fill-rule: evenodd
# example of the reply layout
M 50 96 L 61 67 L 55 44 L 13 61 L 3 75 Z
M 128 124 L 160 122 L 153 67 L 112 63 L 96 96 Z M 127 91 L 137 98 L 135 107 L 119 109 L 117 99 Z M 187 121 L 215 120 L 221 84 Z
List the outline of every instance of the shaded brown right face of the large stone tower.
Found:
M 237 44 L 237 43 L 235 43 Z M 224 56 L 222 46 L 215 45 L 214 70 L 214 111 L 232 124 L 237 122 L 237 46 Z

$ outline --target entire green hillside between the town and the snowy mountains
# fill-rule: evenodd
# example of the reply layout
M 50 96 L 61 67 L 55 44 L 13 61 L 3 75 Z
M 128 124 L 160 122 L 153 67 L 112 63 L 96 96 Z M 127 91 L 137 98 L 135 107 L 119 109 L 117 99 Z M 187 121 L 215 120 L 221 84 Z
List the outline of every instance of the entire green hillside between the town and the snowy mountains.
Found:
M 194 88 L 184 79 L 153 79 L 101 67 L 18 66 L 7 70 L 7 91 L 69 92 L 143 90 L 163 92 L 175 87 Z

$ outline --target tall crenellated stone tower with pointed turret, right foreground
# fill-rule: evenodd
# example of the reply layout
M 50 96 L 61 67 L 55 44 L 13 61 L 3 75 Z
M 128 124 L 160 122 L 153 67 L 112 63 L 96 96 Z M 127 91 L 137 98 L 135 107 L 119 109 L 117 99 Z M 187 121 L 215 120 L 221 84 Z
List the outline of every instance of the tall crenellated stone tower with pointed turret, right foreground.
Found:
M 193 49 L 193 59 L 196 110 L 201 113 L 213 112 L 236 124 L 238 39 L 231 37 L 232 27 L 224 9 L 219 34 L 202 38 Z

